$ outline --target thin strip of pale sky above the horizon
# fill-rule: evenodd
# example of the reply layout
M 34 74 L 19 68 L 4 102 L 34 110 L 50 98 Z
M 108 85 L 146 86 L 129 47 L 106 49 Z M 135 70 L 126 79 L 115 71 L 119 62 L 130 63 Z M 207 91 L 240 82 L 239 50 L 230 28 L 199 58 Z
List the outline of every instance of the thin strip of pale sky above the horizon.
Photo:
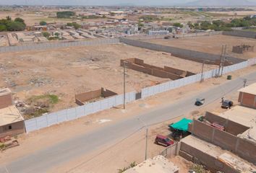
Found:
M 99 6 L 111 6 L 111 5 L 138 5 L 138 6 L 164 6 L 164 5 L 179 5 L 186 4 L 191 1 L 198 0 L 0 0 L 0 5 L 99 5 Z M 215 0 L 200 0 L 202 1 L 214 1 Z M 224 0 L 224 1 L 247 1 L 247 0 Z M 256 3 L 256 0 L 249 0 Z M 230 3 L 232 4 L 232 3 Z M 244 4 L 244 3 L 243 3 Z M 245 3 L 246 4 L 246 3 Z

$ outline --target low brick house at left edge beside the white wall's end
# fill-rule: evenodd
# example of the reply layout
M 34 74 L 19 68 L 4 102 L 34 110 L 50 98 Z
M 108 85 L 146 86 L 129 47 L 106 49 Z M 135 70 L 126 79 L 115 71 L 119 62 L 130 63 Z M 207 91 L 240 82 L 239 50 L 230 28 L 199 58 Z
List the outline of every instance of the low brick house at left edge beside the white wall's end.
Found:
M 0 90 L 0 138 L 15 136 L 25 132 L 24 118 L 19 110 L 12 105 L 12 92 Z

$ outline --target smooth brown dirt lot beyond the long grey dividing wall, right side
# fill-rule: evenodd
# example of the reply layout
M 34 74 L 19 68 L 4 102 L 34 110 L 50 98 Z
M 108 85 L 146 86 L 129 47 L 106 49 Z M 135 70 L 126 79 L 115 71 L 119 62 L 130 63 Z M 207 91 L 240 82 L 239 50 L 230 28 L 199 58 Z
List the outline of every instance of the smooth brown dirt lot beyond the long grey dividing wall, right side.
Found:
M 150 43 L 157 43 L 161 45 L 170 45 L 177 48 L 185 48 L 189 50 L 197 50 L 205 53 L 213 53 L 221 55 L 222 45 L 227 45 L 227 56 L 234 56 L 237 58 L 255 58 L 256 50 L 254 52 L 246 52 L 243 54 L 232 53 L 232 48 L 235 45 L 256 45 L 256 40 L 245 37 L 233 37 L 226 35 L 211 35 L 200 37 L 185 37 L 179 39 L 155 39 L 147 40 Z

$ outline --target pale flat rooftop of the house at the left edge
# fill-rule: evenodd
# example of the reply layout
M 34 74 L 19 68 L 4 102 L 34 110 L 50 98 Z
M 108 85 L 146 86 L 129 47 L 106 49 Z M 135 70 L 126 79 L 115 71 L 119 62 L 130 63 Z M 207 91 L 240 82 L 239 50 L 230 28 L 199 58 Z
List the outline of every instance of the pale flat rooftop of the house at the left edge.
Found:
M 24 118 L 14 105 L 0 109 L 0 126 L 17 123 L 22 120 Z

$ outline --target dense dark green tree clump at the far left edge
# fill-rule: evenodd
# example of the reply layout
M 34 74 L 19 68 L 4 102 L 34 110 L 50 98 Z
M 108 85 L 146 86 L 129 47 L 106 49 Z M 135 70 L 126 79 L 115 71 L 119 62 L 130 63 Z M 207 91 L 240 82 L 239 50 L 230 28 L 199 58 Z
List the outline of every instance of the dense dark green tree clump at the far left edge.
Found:
M 20 17 L 14 20 L 9 16 L 5 19 L 0 19 L 0 31 L 22 31 L 25 30 L 25 28 L 25 21 Z

